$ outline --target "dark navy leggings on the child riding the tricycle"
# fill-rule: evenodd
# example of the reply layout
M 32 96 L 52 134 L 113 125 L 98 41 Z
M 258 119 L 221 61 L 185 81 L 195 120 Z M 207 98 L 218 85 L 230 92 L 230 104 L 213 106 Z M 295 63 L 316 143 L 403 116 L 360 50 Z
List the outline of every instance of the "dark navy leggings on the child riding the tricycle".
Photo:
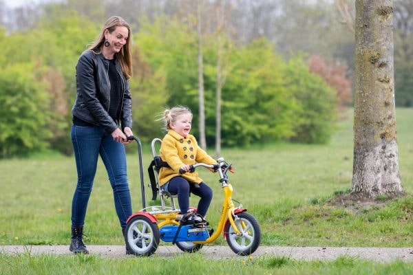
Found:
M 198 214 L 202 215 L 202 217 L 205 217 L 207 214 L 212 200 L 212 189 L 204 182 L 192 184 L 183 177 L 174 177 L 169 181 L 168 191 L 178 194 L 178 203 L 182 214 L 189 210 L 189 192 L 201 198 L 198 202 Z

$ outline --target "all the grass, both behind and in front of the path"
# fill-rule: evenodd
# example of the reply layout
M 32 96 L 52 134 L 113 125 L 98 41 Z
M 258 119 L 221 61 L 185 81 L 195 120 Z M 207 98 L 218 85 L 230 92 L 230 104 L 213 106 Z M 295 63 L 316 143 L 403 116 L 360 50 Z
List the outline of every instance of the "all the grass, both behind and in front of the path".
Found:
M 230 182 L 262 228 L 262 245 L 413 246 L 413 109 L 397 109 L 399 164 L 407 196 L 379 206 L 343 208 L 328 199 L 347 192 L 352 180 L 352 113 L 337 124 L 326 145 L 262 144 L 226 148 L 222 156 L 235 166 Z M 136 146 L 130 144 L 129 146 Z M 144 170 L 151 160 L 144 146 Z M 213 151 L 211 151 L 212 153 Z M 141 208 L 138 155 L 128 155 L 134 211 Z M 214 190 L 207 219 L 215 225 L 222 193 L 216 175 L 200 170 Z M 145 173 L 145 182 L 149 182 Z M 0 161 L 0 244 L 69 244 L 70 211 L 76 186 L 73 157 L 40 155 Z M 147 199 L 151 198 L 147 188 Z M 383 198 L 381 198 L 383 199 Z M 380 202 L 380 201 L 378 201 Z M 149 202 L 151 203 L 151 202 Z M 197 199 L 191 197 L 191 205 Z M 112 190 L 100 162 L 85 223 L 87 244 L 121 244 Z M 215 244 L 224 244 L 222 239 Z M 161 242 L 161 245 L 165 243 Z M 161 264 L 159 264 L 161 263 Z M 165 263 L 162 264 L 162 263 Z M 0 274 L 412 274 L 411 263 L 377 264 L 341 257 L 335 261 L 295 261 L 286 257 L 204 261 L 200 254 L 172 259 L 102 259 L 98 256 L 7 256 L 0 252 Z

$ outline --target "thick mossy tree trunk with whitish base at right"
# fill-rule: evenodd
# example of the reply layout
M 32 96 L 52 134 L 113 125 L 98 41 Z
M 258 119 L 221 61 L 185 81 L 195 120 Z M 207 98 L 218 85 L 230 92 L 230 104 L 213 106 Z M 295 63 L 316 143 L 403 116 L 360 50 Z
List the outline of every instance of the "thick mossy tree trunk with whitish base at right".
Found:
M 356 0 L 354 160 L 351 193 L 403 193 L 394 107 L 393 1 Z

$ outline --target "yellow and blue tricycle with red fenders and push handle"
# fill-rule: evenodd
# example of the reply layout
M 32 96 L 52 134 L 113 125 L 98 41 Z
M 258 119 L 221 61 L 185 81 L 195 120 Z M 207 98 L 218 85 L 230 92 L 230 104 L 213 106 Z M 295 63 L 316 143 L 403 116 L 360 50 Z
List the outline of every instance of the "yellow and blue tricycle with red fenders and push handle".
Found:
M 179 208 L 176 208 L 174 200 L 176 194 L 166 192 L 159 186 L 158 171 L 162 167 L 162 159 L 156 154 L 156 143 L 162 143 L 162 140 L 159 138 L 152 140 L 153 160 L 148 168 L 153 192 L 152 200 L 156 200 L 156 196 L 159 195 L 160 206 L 146 206 L 142 145 L 138 137 L 131 136 L 128 139 L 135 140 L 138 144 L 142 192 L 142 209 L 134 212 L 127 219 L 125 240 L 129 252 L 136 256 L 150 256 L 156 252 L 160 240 L 177 245 L 184 252 L 197 252 L 204 244 L 212 243 L 218 239 L 220 234 L 223 234 L 229 247 L 236 254 L 246 256 L 257 250 L 261 241 L 260 224 L 252 214 L 242 208 L 241 203 L 240 206 L 235 207 L 231 198 L 233 186 L 229 184 L 229 176 L 227 175 L 229 171 L 232 171 L 232 166 L 223 157 L 217 159 L 218 164 L 197 163 L 191 166 L 191 171 L 198 167 L 204 167 L 218 172 L 224 197 L 217 228 L 214 230 L 207 225 L 201 227 L 186 225 L 182 222 L 183 215 Z M 171 206 L 166 206 L 165 201 L 168 197 L 171 199 Z M 192 209 L 196 211 L 195 208 Z

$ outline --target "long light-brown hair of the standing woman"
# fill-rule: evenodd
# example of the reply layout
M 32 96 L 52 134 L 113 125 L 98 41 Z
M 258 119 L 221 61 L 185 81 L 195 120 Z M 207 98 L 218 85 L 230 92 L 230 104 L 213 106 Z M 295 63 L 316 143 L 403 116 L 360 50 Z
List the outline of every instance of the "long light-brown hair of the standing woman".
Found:
M 102 52 L 103 43 L 105 43 L 105 30 L 108 30 L 109 33 L 116 29 L 116 27 L 126 27 L 127 28 L 127 39 L 126 44 L 123 45 L 122 50 L 120 52 L 115 53 L 115 58 L 119 61 L 120 67 L 122 67 L 122 72 L 125 78 L 129 79 L 132 76 L 132 42 L 131 42 L 131 28 L 125 19 L 118 16 L 109 17 L 105 22 L 100 34 L 96 38 L 96 40 L 90 45 L 89 50 L 96 52 L 96 54 L 100 54 Z

